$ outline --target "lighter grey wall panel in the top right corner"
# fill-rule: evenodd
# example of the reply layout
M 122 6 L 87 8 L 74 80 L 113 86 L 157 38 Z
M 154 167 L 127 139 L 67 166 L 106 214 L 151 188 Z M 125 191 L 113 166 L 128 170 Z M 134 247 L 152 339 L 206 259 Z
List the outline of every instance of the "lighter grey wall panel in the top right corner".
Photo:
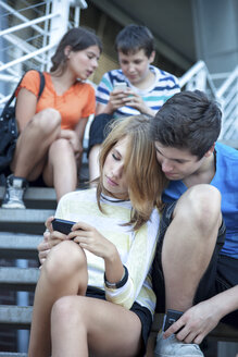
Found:
M 196 58 L 211 73 L 230 72 L 238 64 L 238 1 L 193 0 Z

